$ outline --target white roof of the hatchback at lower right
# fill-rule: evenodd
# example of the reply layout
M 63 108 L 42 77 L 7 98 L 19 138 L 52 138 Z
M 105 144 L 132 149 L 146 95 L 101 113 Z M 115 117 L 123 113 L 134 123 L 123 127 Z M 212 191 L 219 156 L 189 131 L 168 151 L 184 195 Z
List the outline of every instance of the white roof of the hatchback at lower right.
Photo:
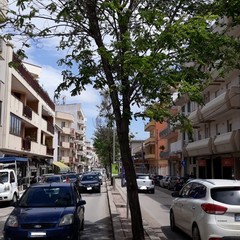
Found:
M 233 186 L 240 187 L 240 180 L 234 179 L 192 179 L 190 182 L 202 183 L 209 188 L 233 187 Z

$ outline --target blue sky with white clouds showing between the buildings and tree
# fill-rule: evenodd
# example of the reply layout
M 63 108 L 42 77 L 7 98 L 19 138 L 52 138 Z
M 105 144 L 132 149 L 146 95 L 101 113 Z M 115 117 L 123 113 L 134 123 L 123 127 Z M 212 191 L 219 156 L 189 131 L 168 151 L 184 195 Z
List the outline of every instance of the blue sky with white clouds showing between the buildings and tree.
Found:
M 16 49 L 19 47 L 16 45 Z M 38 46 L 32 46 L 26 50 L 29 62 L 34 65 L 38 65 L 42 68 L 39 83 L 42 85 L 49 96 L 53 99 L 54 91 L 57 86 L 62 82 L 61 71 L 57 65 L 57 60 L 61 58 L 61 52 L 58 52 L 55 48 L 56 42 L 53 39 L 47 40 L 44 43 L 38 44 Z M 71 97 L 69 92 L 63 92 L 62 96 L 65 96 L 65 102 L 68 103 L 80 103 L 87 119 L 86 122 L 86 139 L 91 141 L 96 126 L 96 117 L 98 115 L 97 105 L 100 104 L 101 99 L 96 90 L 91 86 L 87 87 L 87 91 L 83 92 L 80 96 Z M 62 103 L 62 98 L 59 99 Z M 147 121 L 139 119 L 133 120 L 130 126 L 130 131 L 135 135 L 135 139 L 143 140 L 149 137 L 148 132 L 144 132 L 144 125 Z

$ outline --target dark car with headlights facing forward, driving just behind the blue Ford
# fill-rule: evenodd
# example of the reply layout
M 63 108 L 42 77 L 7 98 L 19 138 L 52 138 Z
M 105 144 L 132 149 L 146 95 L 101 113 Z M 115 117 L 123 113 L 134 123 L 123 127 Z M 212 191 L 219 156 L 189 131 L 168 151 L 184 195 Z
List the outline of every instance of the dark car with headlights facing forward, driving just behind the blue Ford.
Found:
M 101 192 L 101 181 L 98 174 L 86 173 L 83 174 L 79 182 L 80 192 Z

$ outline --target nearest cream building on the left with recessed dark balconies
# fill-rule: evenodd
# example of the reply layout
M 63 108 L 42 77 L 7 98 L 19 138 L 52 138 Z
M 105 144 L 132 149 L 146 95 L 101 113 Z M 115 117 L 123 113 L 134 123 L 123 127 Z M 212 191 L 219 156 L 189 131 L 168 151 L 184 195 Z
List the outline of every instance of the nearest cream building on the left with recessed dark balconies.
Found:
M 0 46 L 1 156 L 25 158 L 22 176 L 46 173 L 53 160 L 55 105 L 38 83 L 41 68 L 21 62 L 3 39 Z

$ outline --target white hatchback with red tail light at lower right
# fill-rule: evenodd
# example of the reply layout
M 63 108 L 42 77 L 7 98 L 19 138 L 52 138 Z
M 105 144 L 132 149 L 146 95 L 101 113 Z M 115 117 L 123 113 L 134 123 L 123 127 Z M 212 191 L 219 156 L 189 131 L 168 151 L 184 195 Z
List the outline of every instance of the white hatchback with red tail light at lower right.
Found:
M 172 196 L 172 231 L 193 240 L 240 239 L 240 181 L 195 179 Z

